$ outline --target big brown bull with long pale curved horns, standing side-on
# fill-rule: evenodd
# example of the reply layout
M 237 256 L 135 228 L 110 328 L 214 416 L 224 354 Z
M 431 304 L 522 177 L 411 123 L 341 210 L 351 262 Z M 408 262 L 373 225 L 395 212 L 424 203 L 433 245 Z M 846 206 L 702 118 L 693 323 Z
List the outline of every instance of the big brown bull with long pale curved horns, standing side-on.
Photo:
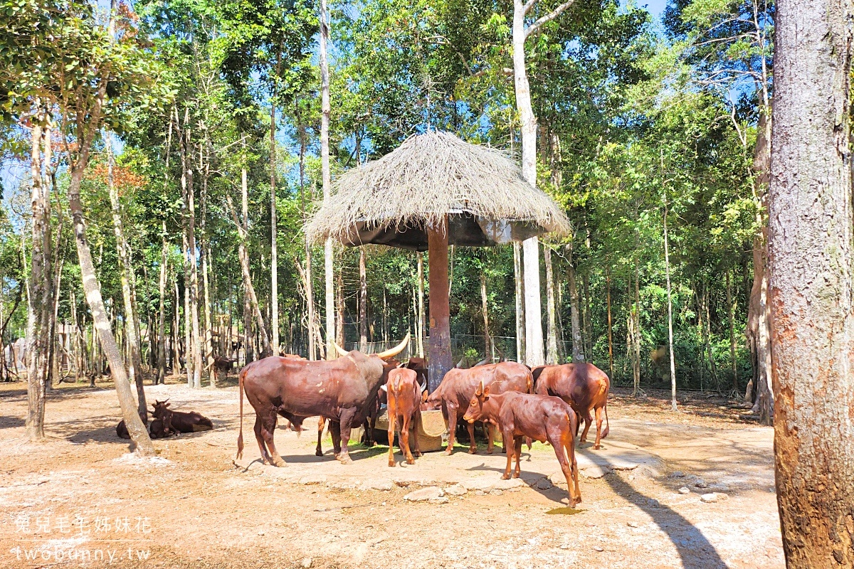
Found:
M 285 462 L 276 451 L 273 434 L 276 415 L 282 415 L 300 430 L 307 417 L 320 415 L 330 420 L 336 458 L 350 459 L 350 429 L 365 421 L 366 410 L 377 397 L 383 378 L 384 360 L 395 357 L 409 343 L 409 334 L 397 347 L 366 356 L 360 351 L 345 352 L 329 362 L 306 362 L 285 357 L 265 357 L 250 363 L 239 375 L 240 435 L 237 458 L 243 456 L 243 392 L 255 409 L 255 439 L 261 459 L 277 467 Z

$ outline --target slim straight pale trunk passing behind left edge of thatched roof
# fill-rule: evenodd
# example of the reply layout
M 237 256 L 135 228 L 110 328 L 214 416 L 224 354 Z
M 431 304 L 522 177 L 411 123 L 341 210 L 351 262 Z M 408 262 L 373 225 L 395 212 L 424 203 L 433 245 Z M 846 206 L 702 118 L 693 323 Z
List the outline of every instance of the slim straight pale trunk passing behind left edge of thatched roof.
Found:
M 330 200 L 332 177 L 329 169 L 329 62 L 326 61 L 326 42 L 329 38 L 326 0 L 320 0 L 320 172 L 323 180 L 323 199 Z M 335 287 L 333 285 L 332 238 L 324 243 L 326 292 L 326 357 L 333 359 L 337 351 L 332 345 L 335 338 Z

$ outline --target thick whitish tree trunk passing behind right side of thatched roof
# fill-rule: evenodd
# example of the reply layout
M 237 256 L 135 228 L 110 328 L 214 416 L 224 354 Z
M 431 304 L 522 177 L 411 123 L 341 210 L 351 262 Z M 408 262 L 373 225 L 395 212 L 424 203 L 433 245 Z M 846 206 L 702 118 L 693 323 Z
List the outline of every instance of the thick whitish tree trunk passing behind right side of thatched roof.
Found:
M 528 70 L 525 67 L 525 7 L 513 0 L 513 85 L 516 107 L 522 124 L 522 177 L 536 187 L 536 117 L 531 107 Z M 540 246 L 536 237 L 522 244 L 524 250 L 525 294 L 525 363 L 545 363 L 542 345 L 542 311 L 540 299 Z

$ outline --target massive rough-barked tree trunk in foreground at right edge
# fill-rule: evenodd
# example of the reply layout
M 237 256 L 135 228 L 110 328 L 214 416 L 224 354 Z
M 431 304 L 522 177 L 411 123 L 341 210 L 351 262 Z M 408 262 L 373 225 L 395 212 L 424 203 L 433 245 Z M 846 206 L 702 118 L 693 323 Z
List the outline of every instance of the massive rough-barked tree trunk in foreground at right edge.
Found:
M 775 22 L 769 305 L 791 569 L 854 566 L 852 14 L 851 0 L 781 0 Z

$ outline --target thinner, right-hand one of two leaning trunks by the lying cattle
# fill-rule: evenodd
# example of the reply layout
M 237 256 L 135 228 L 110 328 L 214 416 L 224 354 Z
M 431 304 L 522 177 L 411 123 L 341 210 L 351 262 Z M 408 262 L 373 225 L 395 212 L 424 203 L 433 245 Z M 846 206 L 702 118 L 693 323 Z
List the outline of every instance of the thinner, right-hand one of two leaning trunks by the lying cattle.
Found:
M 139 353 L 139 332 L 137 330 L 137 318 L 134 316 L 134 305 L 131 296 L 131 266 L 128 254 L 125 227 L 121 219 L 121 206 L 119 203 L 119 189 L 115 187 L 113 180 L 113 169 L 115 160 L 113 156 L 112 136 L 109 132 L 104 134 L 104 147 L 107 150 L 107 188 L 109 190 L 110 206 L 113 212 L 113 231 L 115 234 L 115 246 L 119 258 L 119 276 L 121 282 L 121 297 L 125 307 L 125 336 L 127 341 L 128 376 L 137 387 L 137 409 L 145 421 L 148 421 L 149 410 L 145 402 L 145 389 L 143 388 L 143 370 L 141 369 L 142 357 Z

